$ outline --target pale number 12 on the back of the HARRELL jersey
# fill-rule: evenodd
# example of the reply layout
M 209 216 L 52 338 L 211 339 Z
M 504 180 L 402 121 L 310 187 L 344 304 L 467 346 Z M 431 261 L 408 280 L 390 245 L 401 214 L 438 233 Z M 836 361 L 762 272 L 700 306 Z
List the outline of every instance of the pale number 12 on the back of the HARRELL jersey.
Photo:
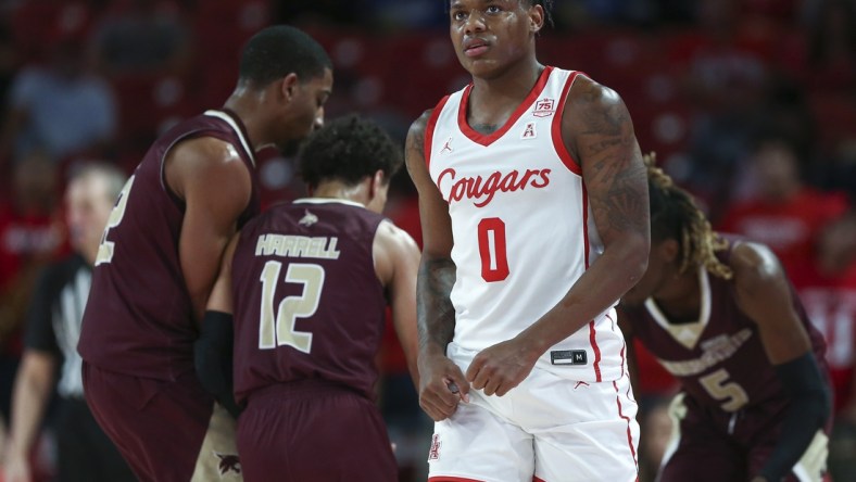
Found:
M 279 281 L 282 263 L 269 261 L 262 270 L 262 306 L 259 320 L 259 347 L 262 350 L 277 346 L 292 346 L 303 353 L 312 350 L 312 333 L 298 331 L 298 318 L 309 318 L 318 309 L 324 288 L 324 268 L 314 264 L 291 263 L 286 270 L 287 283 L 302 283 L 300 296 L 286 296 L 276 312 L 274 299 Z

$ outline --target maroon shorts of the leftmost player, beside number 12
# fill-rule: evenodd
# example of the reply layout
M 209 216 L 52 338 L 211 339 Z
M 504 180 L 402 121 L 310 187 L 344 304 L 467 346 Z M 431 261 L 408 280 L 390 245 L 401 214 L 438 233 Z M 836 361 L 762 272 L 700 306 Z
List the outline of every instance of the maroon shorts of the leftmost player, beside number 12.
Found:
M 214 402 L 196 376 L 175 382 L 102 370 L 84 362 L 86 401 L 140 481 L 188 482 Z

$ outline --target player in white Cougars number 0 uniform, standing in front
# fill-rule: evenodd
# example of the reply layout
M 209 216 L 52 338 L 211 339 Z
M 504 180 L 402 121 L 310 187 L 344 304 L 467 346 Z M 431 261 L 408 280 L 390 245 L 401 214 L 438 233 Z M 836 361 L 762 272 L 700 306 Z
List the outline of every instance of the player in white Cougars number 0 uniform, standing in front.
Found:
M 538 62 L 550 3 L 452 0 L 473 84 L 407 137 L 432 482 L 637 479 L 614 306 L 647 264 L 645 167 L 613 90 Z

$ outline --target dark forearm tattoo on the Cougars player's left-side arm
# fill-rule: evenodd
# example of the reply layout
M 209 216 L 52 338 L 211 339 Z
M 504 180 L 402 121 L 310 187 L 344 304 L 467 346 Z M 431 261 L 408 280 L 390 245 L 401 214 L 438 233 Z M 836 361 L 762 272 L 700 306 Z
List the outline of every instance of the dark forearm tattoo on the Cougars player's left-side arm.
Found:
M 455 283 L 455 264 L 450 258 L 423 259 L 416 284 L 419 347 L 436 343 L 445 348 L 455 333 L 455 308 L 450 294 Z

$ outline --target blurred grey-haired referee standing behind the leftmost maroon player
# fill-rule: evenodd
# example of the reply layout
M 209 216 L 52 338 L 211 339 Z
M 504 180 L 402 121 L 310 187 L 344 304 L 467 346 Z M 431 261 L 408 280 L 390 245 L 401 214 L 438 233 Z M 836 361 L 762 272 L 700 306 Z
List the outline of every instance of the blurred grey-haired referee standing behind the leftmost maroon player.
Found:
M 3 464 L 5 482 L 34 480 L 29 455 L 58 373 L 56 480 L 135 480 L 86 405 L 81 360 L 76 350 L 92 279 L 91 266 L 103 227 L 124 182 L 125 176 L 117 168 L 95 164 L 75 174 L 66 189 L 65 218 L 74 252 L 41 272 L 29 304 L 26 348 L 15 380 L 9 449 Z M 58 370 L 61 362 L 62 368 Z

